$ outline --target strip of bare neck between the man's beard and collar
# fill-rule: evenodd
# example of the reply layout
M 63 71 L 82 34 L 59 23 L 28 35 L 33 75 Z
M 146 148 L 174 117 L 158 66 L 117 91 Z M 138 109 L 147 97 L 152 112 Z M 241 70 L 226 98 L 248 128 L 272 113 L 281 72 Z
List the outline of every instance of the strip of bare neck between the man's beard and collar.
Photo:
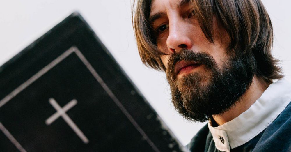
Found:
M 222 125 L 228 121 L 233 120 L 241 113 L 245 112 L 255 101 L 260 98 L 262 93 L 268 88 L 269 84 L 258 77 L 253 77 L 253 81 L 249 89 L 242 95 L 242 97 L 231 107 L 228 111 L 219 115 L 212 116 L 217 125 Z

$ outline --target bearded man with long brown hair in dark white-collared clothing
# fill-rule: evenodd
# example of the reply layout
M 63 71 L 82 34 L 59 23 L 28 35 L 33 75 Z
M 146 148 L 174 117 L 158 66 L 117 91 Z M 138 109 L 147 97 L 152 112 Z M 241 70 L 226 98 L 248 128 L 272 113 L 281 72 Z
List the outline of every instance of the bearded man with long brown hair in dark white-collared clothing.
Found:
M 137 0 L 134 7 L 141 60 L 166 72 L 180 114 L 208 121 L 190 151 L 291 151 L 291 85 L 272 57 L 260 0 Z

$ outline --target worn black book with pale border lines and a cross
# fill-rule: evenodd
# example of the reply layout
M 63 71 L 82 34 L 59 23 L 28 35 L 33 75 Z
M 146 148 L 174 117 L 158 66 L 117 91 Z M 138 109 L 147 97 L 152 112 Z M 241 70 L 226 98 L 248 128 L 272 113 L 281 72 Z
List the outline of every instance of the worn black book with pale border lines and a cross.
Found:
M 0 151 L 183 151 L 73 13 L 0 67 Z

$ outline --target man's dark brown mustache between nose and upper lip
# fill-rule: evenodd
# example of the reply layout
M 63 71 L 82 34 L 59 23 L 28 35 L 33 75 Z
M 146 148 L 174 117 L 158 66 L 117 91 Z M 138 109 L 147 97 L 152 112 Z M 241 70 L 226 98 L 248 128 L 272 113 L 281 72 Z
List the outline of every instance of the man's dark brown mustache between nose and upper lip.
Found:
M 178 53 L 173 53 L 169 60 L 167 66 L 167 75 L 174 75 L 174 69 L 176 63 L 179 61 L 194 61 L 197 64 L 203 64 L 207 68 L 212 69 L 216 65 L 214 58 L 207 52 L 195 52 L 189 49 L 181 49 Z

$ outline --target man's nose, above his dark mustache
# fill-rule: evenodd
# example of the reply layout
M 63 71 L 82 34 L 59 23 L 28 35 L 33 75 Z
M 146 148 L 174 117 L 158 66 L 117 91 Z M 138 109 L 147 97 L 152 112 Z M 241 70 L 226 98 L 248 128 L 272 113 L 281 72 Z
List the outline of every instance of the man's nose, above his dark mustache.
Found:
M 169 35 L 166 41 L 168 50 L 171 53 L 178 53 L 182 48 L 191 49 L 192 41 L 191 31 L 188 30 L 187 24 L 181 21 L 169 23 Z

